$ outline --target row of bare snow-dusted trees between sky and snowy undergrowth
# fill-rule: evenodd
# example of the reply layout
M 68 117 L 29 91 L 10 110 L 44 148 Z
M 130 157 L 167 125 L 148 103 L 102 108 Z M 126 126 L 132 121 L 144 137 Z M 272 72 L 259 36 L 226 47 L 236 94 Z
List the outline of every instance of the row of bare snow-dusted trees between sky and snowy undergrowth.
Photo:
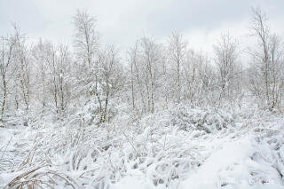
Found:
M 117 102 L 127 102 L 132 114 L 154 113 L 172 103 L 223 106 L 241 101 L 249 92 L 259 106 L 283 106 L 283 42 L 272 33 L 268 20 L 253 9 L 249 32 L 254 48 L 242 52 L 230 34 L 221 35 L 209 56 L 193 51 L 178 33 L 167 43 L 143 36 L 122 54 L 100 43 L 96 20 L 76 12 L 73 49 L 38 40 L 28 45 L 26 35 L 1 36 L 1 114 L 17 110 L 49 110 L 67 114 L 70 106 L 93 103 L 98 122 L 108 122 Z M 242 68 L 241 53 L 249 53 L 248 68 Z M 127 57 L 127 61 L 122 60 Z M 94 119 L 92 117 L 91 119 Z

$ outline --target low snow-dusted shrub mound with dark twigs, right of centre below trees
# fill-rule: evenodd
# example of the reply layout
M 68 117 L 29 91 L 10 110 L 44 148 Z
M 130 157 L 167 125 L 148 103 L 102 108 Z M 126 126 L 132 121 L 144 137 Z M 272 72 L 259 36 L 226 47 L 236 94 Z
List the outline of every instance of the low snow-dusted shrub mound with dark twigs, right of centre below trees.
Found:
M 203 130 L 206 133 L 235 126 L 231 114 L 214 108 L 188 105 L 181 105 L 157 114 L 151 114 L 144 120 L 144 123 L 148 125 L 174 126 L 180 130 Z

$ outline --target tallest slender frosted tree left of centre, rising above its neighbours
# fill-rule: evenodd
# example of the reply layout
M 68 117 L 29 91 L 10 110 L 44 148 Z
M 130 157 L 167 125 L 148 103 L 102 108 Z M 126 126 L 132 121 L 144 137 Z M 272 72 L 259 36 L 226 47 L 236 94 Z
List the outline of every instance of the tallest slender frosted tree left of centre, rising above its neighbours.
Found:
M 80 87 L 79 93 L 101 99 L 99 91 L 99 35 L 95 30 L 96 20 L 87 12 L 77 11 L 74 17 L 75 38 L 74 47 L 76 55 L 76 77 Z M 95 88 L 95 89 L 93 89 Z

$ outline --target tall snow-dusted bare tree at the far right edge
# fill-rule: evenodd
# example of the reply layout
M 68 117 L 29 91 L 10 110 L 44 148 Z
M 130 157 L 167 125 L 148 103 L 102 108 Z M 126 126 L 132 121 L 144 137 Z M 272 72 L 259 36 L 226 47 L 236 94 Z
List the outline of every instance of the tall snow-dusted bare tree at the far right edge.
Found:
M 251 90 L 269 109 L 281 105 L 283 93 L 283 43 L 272 35 L 267 17 L 261 10 L 253 9 L 250 26 L 251 35 L 256 37 L 256 50 L 250 51 L 254 60 Z

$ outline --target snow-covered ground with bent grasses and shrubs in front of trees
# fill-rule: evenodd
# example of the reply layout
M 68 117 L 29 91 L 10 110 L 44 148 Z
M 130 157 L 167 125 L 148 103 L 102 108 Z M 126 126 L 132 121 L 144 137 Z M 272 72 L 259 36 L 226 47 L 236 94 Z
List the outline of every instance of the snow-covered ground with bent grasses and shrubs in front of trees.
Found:
M 180 105 L 100 127 L 43 117 L 0 128 L 0 188 L 278 189 L 283 144 L 283 114 L 254 107 Z

